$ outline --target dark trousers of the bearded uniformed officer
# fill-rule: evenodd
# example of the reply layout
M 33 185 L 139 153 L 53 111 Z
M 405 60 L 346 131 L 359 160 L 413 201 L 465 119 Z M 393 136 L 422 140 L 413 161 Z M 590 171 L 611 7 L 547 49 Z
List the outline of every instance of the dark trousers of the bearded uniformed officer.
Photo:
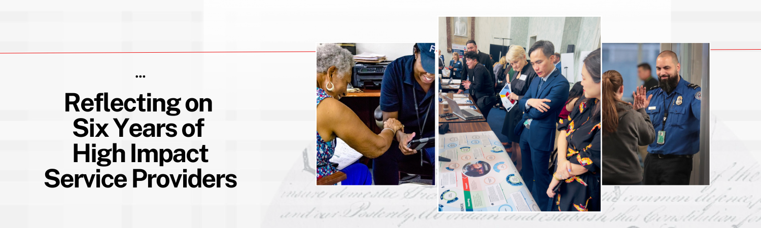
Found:
M 689 185 L 689 175 L 693 172 L 692 157 L 659 158 L 648 154 L 645 157 L 645 185 Z

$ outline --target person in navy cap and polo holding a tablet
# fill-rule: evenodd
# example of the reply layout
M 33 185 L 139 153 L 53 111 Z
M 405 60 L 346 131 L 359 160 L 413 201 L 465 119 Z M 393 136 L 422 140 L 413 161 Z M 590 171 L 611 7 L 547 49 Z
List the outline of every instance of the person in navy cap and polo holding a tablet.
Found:
M 433 137 L 436 129 L 435 102 L 437 97 L 432 85 L 435 81 L 436 46 L 433 43 L 416 43 L 412 55 L 402 56 L 391 62 L 384 71 L 380 84 L 380 110 L 384 122 L 398 119 L 403 127 L 396 132 L 391 146 L 383 155 L 373 159 L 375 185 L 399 185 L 400 166 L 415 172 L 422 170 L 421 161 L 433 164 L 434 148 L 422 150 L 421 154 L 407 147 L 407 143 L 420 138 Z M 431 168 L 430 173 L 434 170 Z

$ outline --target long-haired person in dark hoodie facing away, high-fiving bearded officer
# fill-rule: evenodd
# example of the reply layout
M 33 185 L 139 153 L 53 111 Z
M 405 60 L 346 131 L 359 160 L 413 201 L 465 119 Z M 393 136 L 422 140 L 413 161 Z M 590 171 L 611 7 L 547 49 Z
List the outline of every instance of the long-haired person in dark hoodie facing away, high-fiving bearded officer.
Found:
M 645 94 L 645 87 L 637 88 Z M 618 71 L 603 74 L 603 176 L 606 185 L 641 185 L 642 166 L 638 146 L 655 140 L 655 129 L 645 108 L 650 103 L 645 96 L 634 96 L 634 104 L 625 103 L 623 79 Z M 652 97 L 652 95 L 651 95 Z

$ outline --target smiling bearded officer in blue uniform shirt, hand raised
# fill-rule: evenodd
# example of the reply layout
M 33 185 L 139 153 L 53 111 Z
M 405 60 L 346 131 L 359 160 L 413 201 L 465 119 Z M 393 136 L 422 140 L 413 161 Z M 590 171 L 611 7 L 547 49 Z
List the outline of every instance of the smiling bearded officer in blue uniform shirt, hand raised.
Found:
M 635 102 L 645 103 L 657 131 L 655 141 L 648 146 L 644 182 L 689 185 L 693 155 L 700 149 L 700 87 L 681 77 L 674 52 L 661 52 L 655 69 L 658 86 L 651 87 L 647 95 L 643 87 L 635 92 Z

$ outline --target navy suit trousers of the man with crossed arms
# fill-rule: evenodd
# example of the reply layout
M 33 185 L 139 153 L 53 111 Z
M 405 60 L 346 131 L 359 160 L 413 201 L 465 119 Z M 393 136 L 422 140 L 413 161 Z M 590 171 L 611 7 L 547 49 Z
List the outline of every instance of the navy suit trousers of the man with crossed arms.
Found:
M 537 201 L 542 211 L 551 211 L 552 198 L 547 196 L 547 188 L 552 176 L 549 175 L 549 155 L 552 151 L 534 150 L 528 143 L 530 129 L 521 133 L 521 177 L 526 182 L 526 187 L 531 191 L 533 200 Z

